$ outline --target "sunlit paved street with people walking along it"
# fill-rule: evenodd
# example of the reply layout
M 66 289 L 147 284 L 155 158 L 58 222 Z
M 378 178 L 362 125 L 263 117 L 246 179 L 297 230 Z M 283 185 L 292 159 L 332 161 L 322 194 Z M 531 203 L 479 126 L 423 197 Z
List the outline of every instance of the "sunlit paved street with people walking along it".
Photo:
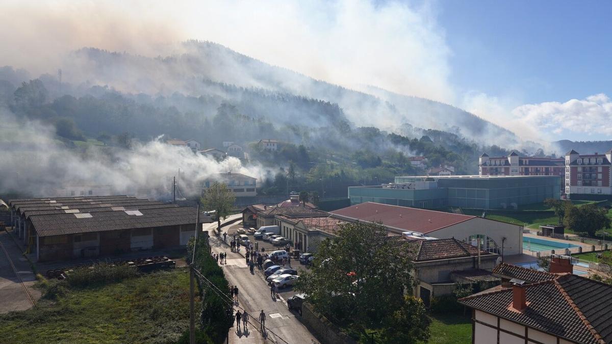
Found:
M 296 318 L 299 315 L 288 310 L 284 299 L 274 299 L 270 296 L 270 289 L 263 274 L 261 272 L 251 274 L 244 257 L 239 253 L 231 252 L 230 247 L 221 241 L 220 237 L 211 237 L 212 251 L 228 254 L 228 263 L 223 265 L 223 270 L 228 282 L 238 286 L 239 305 L 245 308 L 252 317 L 257 317 L 259 312 L 264 310 L 266 327 L 269 329 L 264 339 L 264 334 L 259 332 L 259 326 L 256 328 L 248 326 L 248 332 L 245 333 L 237 331 L 234 325 L 231 329 L 233 332 L 230 335 L 230 343 L 318 343 L 316 338 Z

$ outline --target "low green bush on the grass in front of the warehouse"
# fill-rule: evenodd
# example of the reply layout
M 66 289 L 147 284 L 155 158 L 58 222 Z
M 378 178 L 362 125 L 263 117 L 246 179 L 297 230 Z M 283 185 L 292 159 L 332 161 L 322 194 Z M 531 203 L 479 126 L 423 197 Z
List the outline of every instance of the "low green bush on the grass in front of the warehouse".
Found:
M 120 282 L 138 276 L 135 267 L 113 264 L 95 264 L 92 267 L 80 267 L 68 275 L 70 286 L 86 288 L 111 282 Z

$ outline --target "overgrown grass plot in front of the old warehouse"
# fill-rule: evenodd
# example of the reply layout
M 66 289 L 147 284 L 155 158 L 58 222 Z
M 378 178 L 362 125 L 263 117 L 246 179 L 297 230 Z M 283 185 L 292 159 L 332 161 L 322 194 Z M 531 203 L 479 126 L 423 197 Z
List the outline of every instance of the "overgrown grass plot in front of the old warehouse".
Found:
M 189 326 L 189 274 L 154 272 L 95 288 L 69 288 L 24 312 L 0 315 L 0 342 L 176 342 Z

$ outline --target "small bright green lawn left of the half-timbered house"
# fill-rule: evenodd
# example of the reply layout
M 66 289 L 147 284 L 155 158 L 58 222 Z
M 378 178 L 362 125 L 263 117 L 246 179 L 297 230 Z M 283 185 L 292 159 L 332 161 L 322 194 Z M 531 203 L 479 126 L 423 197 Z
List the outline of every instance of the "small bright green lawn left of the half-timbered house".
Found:
M 461 344 L 472 342 L 471 312 L 466 311 L 465 316 L 460 314 L 431 315 L 431 337 L 428 343 L 435 344 Z

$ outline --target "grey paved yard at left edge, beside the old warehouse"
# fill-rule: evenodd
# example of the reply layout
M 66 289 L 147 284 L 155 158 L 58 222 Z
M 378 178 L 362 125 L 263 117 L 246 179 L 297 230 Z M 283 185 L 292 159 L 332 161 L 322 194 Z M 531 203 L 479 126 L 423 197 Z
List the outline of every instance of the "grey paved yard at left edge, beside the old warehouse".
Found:
M 0 242 L 9 255 L 7 257 L 4 250 L 0 249 L 0 313 L 32 308 L 32 302 L 17 276 L 21 277 L 32 297 L 37 300 L 40 292 L 32 288 L 35 282 L 34 273 L 26 258 L 21 255 L 20 248 L 4 230 L 0 231 Z M 15 266 L 17 273 L 10 262 Z

